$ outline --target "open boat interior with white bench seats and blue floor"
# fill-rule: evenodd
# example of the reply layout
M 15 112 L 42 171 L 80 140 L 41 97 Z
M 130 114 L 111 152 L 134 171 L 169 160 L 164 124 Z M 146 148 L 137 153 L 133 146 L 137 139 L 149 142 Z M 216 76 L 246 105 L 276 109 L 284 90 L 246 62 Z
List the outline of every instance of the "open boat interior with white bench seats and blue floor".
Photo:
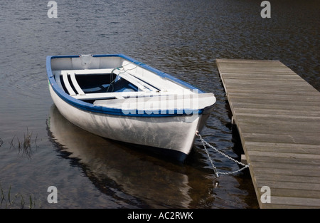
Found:
M 168 78 L 116 56 L 53 58 L 51 66 L 60 88 L 80 100 L 122 99 L 178 91 L 193 93 Z

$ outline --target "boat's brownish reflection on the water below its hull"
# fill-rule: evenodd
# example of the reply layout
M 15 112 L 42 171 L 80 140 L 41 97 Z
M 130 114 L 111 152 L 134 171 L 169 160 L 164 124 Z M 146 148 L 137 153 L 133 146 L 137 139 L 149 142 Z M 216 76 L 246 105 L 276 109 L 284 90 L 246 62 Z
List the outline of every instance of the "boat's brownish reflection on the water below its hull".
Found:
M 102 193 L 133 197 L 137 207 L 190 207 L 191 187 L 181 165 L 88 133 L 63 118 L 55 105 L 50 108 L 48 132 L 61 155 L 80 166 Z

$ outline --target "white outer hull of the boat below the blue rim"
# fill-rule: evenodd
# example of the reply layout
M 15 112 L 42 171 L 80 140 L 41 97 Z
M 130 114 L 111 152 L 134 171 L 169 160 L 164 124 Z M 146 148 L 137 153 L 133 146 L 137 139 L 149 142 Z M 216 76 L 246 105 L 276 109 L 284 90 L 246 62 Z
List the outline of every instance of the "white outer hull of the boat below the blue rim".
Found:
M 53 102 L 71 123 L 103 138 L 142 145 L 161 155 L 183 161 L 191 151 L 212 108 L 196 115 L 125 116 L 94 113 L 60 98 L 49 84 Z

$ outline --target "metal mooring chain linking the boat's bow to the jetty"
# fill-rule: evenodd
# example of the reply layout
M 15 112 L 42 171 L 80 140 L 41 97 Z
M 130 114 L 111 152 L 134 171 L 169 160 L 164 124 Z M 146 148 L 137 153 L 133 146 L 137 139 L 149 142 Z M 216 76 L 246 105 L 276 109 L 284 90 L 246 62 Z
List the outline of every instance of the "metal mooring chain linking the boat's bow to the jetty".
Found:
M 206 154 L 208 155 L 208 158 L 209 158 L 210 163 L 211 163 L 211 165 L 212 165 L 212 167 L 213 167 L 213 171 L 215 172 L 215 176 L 216 176 L 216 177 L 219 177 L 219 175 L 231 175 L 231 174 L 234 174 L 234 173 L 236 173 L 236 172 L 240 172 L 240 171 L 242 171 L 242 170 L 244 170 L 245 168 L 247 168 L 247 167 L 250 166 L 250 163 L 247 164 L 247 165 L 245 165 L 244 163 L 239 162 L 238 160 L 233 159 L 233 157 L 230 157 L 230 156 L 226 155 L 225 153 L 221 152 L 221 151 L 218 150 L 217 148 L 215 148 L 215 147 L 213 147 L 212 145 L 210 145 L 208 142 L 206 142 L 205 140 L 203 140 L 202 136 L 199 134 L 198 131 L 196 131 L 196 136 L 198 136 L 198 138 L 200 138 L 200 140 L 201 140 L 201 142 L 202 142 L 202 145 L 203 145 L 203 147 L 204 147 L 204 149 L 205 149 L 205 151 L 206 151 Z M 208 150 L 207 150 L 206 145 L 207 145 L 208 147 L 212 148 L 213 150 L 215 150 L 215 152 L 220 153 L 221 155 L 227 157 L 229 160 L 233 160 L 233 162 L 236 162 L 236 163 L 238 163 L 239 165 L 242 165 L 243 167 L 240 168 L 239 170 L 235 170 L 235 171 L 232 171 L 232 172 L 219 172 L 219 171 L 217 171 L 217 168 L 216 168 L 215 165 L 213 164 L 213 161 L 212 161 L 212 159 L 211 159 L 211 157 L 210 157 L 210 155 L 209 155 L 209 152 L 208 152 Z

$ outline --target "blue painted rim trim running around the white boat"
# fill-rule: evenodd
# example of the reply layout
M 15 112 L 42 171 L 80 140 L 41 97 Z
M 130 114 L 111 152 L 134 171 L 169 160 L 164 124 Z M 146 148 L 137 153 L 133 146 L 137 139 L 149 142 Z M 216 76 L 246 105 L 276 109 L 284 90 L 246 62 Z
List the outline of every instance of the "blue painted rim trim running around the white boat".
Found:
M 46 58 L 46 69 L 47 69 L 47 75 L 48 75 L 48 81 L 55 91 L 55 93 L 63 100 L 65 100 L 66 103 L 69 103 L 70 105 L 73 105 L 76 108 L 79 108 L 81 110 L 87 110 L 93 113 L 104 113 L 108 115 L 122 115 L 122 116 L 134 116 L 134 117 L 169 117 L 169 116 L 186 116 L 186 115 L 192 115 L 194 114 L 193 110 L 183 110 L 181 114 L 181 110 L 166 110 L 166 113 L 164 110 L 158 110 L 158 113 L 154 111 L 154 113 L 148 114 L 146 111 L 142 110 L 126 110 L 126 113 L 123 113 L 122 109 L 117 108 L 106 108 L 102 106 L 94 106 L 91 103 L 86 103 L 82 100 L 78 100 L 73 98 L 72 96 L 68 95 L 68 93 L 65 93 L 63 89 L 61 89 L 58 86 L 58 83 L 56 83 L 55 78 L 52 73 L 51 69 L 51 60 L 54 58 L 78 58 L 80 56 L 47 56 Z M 123 54 L 106 54 L 106 55 L 92 55 L 92 57 L 121 57 L 124 58 L 127 61 L 130 61 L 132 63 L 137 64 L 138 66 L 141 66 L 142 68 L 145 68 L 148 71 L 151 71 L 153 73 L 156 73 L 157 75 L 168 78 L 171 81 L 174 81 L 175 83 L 179 83 L 189 89 L 195 89 L 198 90 L 198 88 L 194 87 L 193 85 L 190 85 L 184 81 L 179 80 L 178 78 L 174 78 L 173 76 L 169 75 L 168 73 L 164 73 L 162 71 L 157 70 L 156 68 L 152 68 L 151 66 L 147 66 L 144 63 L 141 63 L 139 61 L 134 60 L 133 58 L 130 58 L 129 56 L 125 56 Z M 198 93 L 204 93 L 201 90 L 198 90 Z M 198 110 L 198 115 L 203 113 L 203 109 Z

